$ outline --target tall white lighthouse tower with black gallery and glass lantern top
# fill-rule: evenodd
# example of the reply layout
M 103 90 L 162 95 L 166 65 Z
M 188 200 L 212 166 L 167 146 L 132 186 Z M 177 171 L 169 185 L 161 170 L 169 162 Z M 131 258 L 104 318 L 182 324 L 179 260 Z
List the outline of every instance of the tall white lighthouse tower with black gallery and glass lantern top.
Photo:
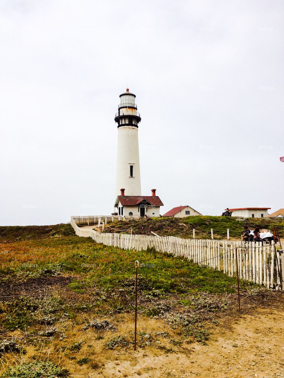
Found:
M 126 196 L 141 195 L 138 124 L 141 121 L 135 104 L 136 96 L 126 92 L 122 93 L 118 112 L 115 115 L 117 122 L 117 160 L 115 196 L 120 194 L 120 189 L 125 189 Z

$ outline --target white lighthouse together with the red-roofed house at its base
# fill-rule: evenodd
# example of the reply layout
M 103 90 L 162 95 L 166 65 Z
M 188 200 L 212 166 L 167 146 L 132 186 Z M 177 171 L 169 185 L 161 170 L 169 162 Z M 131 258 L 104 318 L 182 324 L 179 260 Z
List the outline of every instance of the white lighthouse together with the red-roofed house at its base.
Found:
M 115 178 L 115 204 L 113 215 L 133 217 L 159 217 L 164 206 L 156 189 L 151 196 L 141 195 L 138 124 L 140 113 L 135 104 L 136 96 L 126 88 L 120 96 L 117 123 L 117 160 Z M 149 190 L 150 192 L 150 190 Z

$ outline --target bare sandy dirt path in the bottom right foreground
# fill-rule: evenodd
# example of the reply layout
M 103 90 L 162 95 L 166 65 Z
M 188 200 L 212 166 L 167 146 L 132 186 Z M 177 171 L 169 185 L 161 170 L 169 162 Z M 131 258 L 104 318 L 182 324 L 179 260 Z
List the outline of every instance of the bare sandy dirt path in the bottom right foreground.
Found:
M 186 354 L 114 352 L 114 361 L 88 377 L 284 378 L 283 330 L 283 311 L 259 309 L 212 335 L 208 346 L 188 345 Z

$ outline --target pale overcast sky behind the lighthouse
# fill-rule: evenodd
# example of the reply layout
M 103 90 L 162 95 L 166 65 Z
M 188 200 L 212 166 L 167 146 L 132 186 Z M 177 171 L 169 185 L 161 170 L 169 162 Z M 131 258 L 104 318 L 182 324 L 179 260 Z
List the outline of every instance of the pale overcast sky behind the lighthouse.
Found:
M 136 94 L 142 194 L 284 207 L 281 1 L 0 3 L 1 225 L 113 211 L 117 126 Z

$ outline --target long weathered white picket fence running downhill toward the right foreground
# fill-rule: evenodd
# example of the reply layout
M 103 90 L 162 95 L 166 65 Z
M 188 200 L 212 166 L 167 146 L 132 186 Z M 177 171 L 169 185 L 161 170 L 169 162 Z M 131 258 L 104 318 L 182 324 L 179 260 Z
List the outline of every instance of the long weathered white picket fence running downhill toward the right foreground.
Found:
M 282 277 L 279 277 L 278 269 L 276 269 L 276 276 L 274 274 L 275 248 L 273 244 L 262 245 L 259 242 L 211 239 L 181 239 L 172 236 L 100 234 L 92 229 L 78 227 L 76 224 L 77 219 L 78 217 L 71 217 L 71 226 L 76 235 L 91 237 L 97 243 L 136 251 L 154 247 L 156 251 L 161 253 L 186 257 L 198 265 L 223 271 L 231 277 L 236 275 L 237 257 L 240 279 L 259 283 L 267 288 L 273 288 L 273 283 L 280 287 Z M 281 266 L 281 254 L 276 253 L 276 255 L 278 265 Z M 273 279 L 274 276 L 276 277 L 275 280 Z

